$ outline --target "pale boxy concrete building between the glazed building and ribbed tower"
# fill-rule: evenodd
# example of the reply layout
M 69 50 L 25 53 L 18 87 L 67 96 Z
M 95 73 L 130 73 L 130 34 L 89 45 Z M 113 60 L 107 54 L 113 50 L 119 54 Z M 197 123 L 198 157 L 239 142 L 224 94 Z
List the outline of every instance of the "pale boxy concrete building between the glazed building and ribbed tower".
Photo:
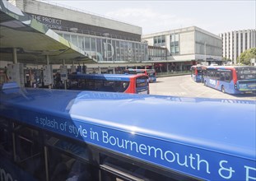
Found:
M 202 61 L 216 63 L 222 59 L 221 38 L 196 26 L 142 35 L 142 40 L 166 49 L 166 69 L 184 70 Z

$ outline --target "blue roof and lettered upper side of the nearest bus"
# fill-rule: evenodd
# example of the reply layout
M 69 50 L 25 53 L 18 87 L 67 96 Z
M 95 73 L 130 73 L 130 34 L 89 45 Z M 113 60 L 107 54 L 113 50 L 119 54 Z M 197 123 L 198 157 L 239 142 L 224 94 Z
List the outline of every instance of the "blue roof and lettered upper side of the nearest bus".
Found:
M 7 118 L 201 179 L 232 167 L 242 180 L 256 164 L 253 100 L 13 88 L 0 101 Z

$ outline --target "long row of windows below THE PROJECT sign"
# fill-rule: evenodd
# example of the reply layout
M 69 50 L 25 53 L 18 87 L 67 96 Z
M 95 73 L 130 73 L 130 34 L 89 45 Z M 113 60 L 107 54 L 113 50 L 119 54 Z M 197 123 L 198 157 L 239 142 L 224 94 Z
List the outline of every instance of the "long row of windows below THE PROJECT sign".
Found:
M 146 61 L 147 44 L 141 42 L 106 39 L 102 37 L 60 34 L 67 41 L 95 58 L 98 62 Z

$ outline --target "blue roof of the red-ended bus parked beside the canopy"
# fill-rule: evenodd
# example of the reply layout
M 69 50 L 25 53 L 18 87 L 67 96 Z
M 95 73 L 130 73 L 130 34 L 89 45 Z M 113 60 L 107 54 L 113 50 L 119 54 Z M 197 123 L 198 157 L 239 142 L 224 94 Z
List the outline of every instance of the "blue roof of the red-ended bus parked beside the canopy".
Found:
M 94 79 L 106 81 L 129 81 L 131 77 L 139 77 L 133 74 L 70 74 L 69 77 L 80 79 Z

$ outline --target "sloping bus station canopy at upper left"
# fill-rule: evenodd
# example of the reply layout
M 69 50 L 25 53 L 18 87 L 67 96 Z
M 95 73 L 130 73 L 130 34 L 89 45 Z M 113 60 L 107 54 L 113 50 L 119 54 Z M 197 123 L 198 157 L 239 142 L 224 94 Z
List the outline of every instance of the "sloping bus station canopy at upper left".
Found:
M 0 60 L 18 63 L 50 64 L 94 62 L 83 50 L 6 0 L 0 1 Z

